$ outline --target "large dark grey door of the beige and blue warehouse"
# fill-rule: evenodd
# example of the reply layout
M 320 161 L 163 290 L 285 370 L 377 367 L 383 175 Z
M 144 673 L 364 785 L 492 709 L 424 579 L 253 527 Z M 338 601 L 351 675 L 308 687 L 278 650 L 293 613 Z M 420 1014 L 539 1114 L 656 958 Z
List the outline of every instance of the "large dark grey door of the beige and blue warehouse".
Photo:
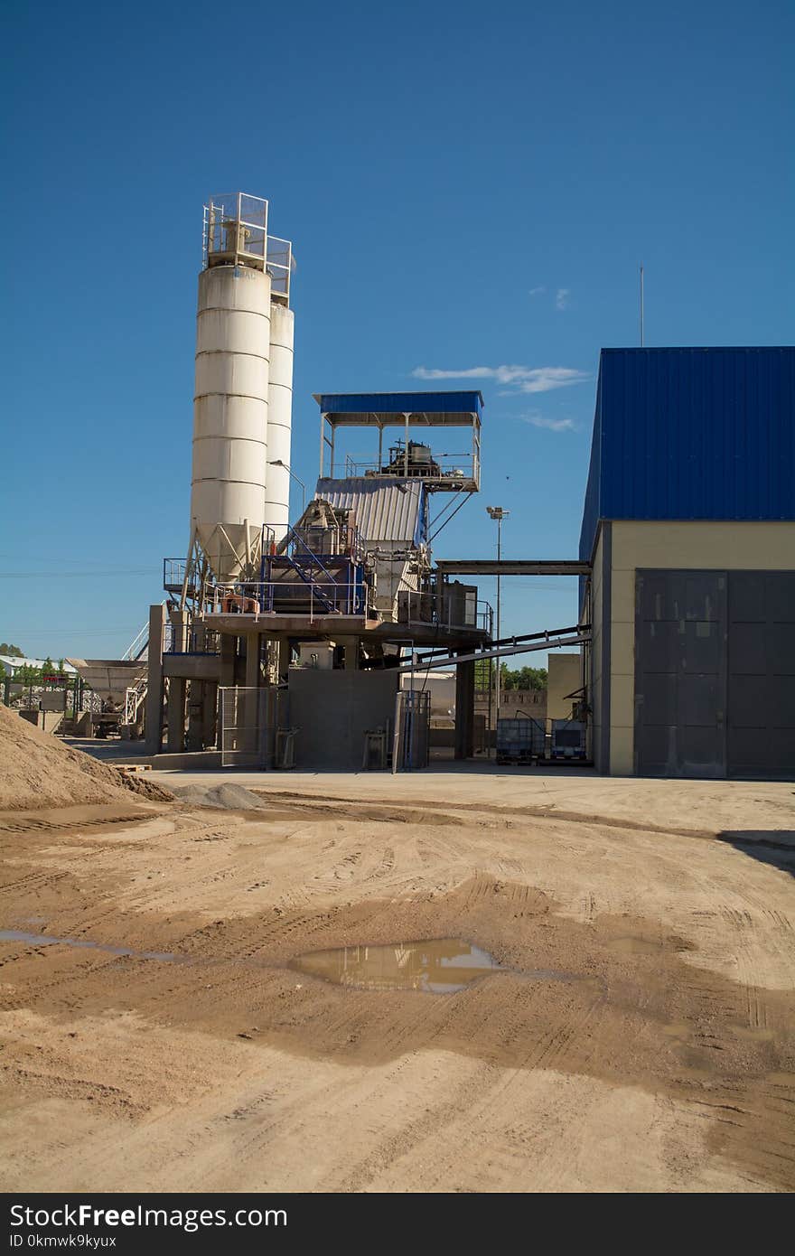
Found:
M 638 571 L 635 771 L 795 772 L 795 573 Z

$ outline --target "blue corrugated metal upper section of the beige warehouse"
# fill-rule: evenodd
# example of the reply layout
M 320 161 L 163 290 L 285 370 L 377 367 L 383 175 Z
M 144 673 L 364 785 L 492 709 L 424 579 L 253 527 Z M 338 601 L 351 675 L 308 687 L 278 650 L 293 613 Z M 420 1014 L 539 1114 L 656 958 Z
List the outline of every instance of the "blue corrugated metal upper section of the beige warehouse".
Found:
M 580 559 L 600 519 L 795 519 L 795 348 L 603 349 Z

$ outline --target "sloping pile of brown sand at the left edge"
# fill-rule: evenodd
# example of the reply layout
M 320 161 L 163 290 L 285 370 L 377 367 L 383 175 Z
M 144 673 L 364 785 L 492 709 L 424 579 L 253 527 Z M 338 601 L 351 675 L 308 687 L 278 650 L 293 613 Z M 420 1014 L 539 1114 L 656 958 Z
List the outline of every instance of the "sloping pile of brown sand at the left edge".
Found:
M 0 705 L 0 810 L 129 803 L 131 791 L 166 801 L 160 785 L 141 782 L 108 764 L 72 750 Z

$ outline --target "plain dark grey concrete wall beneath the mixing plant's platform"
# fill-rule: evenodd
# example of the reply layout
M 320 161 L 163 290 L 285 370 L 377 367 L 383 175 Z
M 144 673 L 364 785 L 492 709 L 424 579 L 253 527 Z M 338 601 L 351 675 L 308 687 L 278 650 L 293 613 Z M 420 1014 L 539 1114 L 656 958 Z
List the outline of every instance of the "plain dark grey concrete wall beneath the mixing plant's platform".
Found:
M 301 771 L 360 771 L 367 730 L 394 727 L 397 671 L 333 672 L 291 667 L 288 681 L 295 766 Z

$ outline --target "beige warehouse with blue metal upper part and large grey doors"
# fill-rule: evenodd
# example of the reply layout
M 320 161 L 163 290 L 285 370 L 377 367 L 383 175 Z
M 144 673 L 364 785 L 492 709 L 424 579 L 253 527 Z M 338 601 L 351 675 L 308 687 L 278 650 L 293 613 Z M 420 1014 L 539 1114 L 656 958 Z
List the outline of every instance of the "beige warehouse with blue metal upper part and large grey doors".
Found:
M 795 349 L 603 349 L 580 535 L 597 769 L 795 772 Z

